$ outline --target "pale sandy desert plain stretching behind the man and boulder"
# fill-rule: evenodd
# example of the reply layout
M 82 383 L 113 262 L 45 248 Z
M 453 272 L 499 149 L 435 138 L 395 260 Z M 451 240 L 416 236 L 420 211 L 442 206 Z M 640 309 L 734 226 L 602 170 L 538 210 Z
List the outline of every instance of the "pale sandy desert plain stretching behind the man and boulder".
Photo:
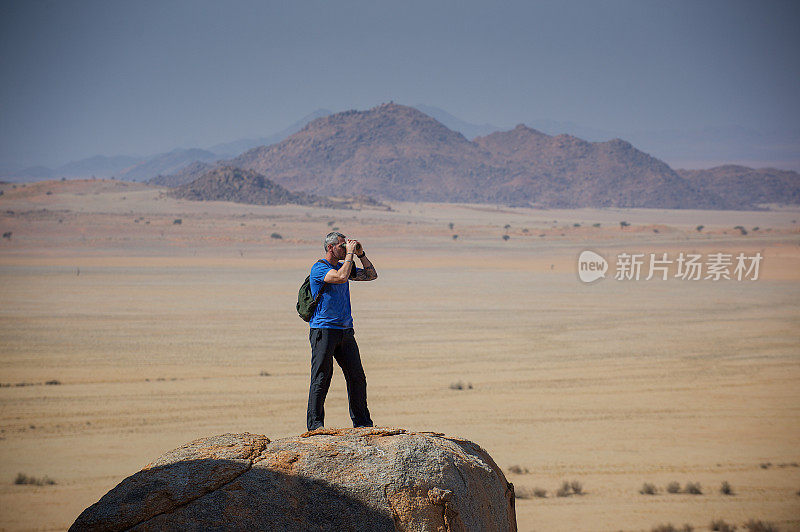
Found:
M 65 529 L 195 438 L 303 432 L 294 304 L 333 227 L 380 274 L 351 286 L 373 419 L 482 445 L 528 495 L 520 530 L 800 530 L 800 210 L 333 211 L 109 181 L 0 189 L 4 530 Z M 578 279 L 585 249 L 611 263 L 606 279 Z M 683 280 L 674 265 L 667 280 L 613 277 L 620 253 L 681 252 L 764 258 L 757 280 Z M 338 369 L 326 410 L 349 425 Z M 563 481 L 584 494 L 557 497 Z

